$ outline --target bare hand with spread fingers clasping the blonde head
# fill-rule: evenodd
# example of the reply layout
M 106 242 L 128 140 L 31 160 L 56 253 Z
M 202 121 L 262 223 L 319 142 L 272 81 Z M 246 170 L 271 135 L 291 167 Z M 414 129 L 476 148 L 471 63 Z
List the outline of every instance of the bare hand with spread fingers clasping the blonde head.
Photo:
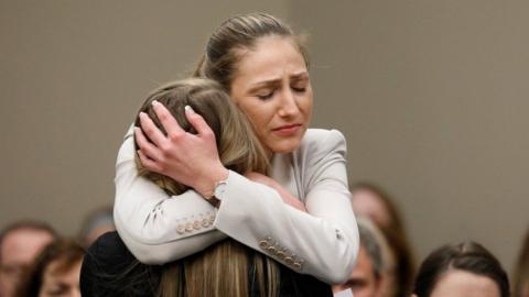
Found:
M 185 108 L 185 116 L 197 134 L 185 132 L 162 103 L 154 101 L 153 108 L 168 135 L 147 113 L 140 114 L 141 129 L 134 128 L 134 135 L 141 164 L 210 197 L 215 183 L 228 177 L 212 129 L 191 107 Z

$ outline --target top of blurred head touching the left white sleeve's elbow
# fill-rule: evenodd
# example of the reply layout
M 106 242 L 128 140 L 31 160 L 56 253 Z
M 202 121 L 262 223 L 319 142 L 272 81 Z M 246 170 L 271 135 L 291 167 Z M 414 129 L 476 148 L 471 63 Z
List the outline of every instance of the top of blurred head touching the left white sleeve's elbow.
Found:
M 84 246 L 89 246 L 100 235 L 115 230 L 112 207 L 105 206 L 86 216 L 77 237 Z

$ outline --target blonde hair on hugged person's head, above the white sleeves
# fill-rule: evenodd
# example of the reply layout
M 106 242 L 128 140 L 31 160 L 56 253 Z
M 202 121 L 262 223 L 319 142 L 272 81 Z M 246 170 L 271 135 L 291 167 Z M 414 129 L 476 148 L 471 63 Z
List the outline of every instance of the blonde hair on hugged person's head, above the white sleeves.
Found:
M 253 133 L 248 119 L 217 82 L 204 78 L 188 78 L 169 82 L 149 95 L 139 112 L 147 113 L 166 134 L 152 108 L 154 100 L 164 105 L 182 129 L 190 133 L 195 134 L 196 131 L 187 121 L 184 107 L 190 106 L 201 114 L 215 134 L 220 162 L 226 168 L 241 174 L 247 170 L 268 173 L 269 161 L 266 151 Z M 139 112 L 136 127 L 140 127 Z M 139 148 L 138 144 L 136 147 Z M 187 186 L 164 175 L 149 172 L 139 161 L 137 165 L 139 175 L 151 179 L 172 195 L 188 189 Z

